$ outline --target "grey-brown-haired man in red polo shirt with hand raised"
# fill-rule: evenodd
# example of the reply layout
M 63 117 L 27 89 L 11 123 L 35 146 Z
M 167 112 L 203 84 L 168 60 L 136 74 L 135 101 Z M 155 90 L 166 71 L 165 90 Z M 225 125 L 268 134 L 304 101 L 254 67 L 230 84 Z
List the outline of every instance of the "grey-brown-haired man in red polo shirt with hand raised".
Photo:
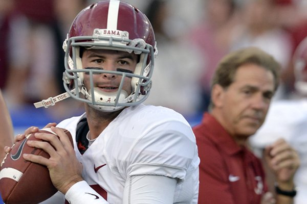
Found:
M 247 145 L 266 118 L 279 68 L 271 55 L 256 47 L 236 50 L 217 65 L 209 112 L 193 127 L 201 159 L 199 203 L 293 202 L 297 152 L 284 140 L 266 146 L 278 192 L 274 197 L 261 161 Z

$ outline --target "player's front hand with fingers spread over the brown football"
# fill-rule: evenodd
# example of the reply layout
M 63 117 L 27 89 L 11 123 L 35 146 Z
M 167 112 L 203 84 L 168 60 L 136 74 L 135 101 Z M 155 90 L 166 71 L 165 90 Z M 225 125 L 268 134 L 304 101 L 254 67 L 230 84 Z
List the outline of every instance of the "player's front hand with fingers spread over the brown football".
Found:
M 47 166 L 53 185 L 62 193 L 75 183 L 82 181 L 82 164 L 75 155 L 68 136 L 59 128 L 52 126 L 51 130 L 57 134 L 36 133 L 35 137 L 43 141 L 27 141 L 31 147 L 45 150 L 50 158 L 24 154 L 24 159 Z M 47 142 L 46 142 L 47 141 Z

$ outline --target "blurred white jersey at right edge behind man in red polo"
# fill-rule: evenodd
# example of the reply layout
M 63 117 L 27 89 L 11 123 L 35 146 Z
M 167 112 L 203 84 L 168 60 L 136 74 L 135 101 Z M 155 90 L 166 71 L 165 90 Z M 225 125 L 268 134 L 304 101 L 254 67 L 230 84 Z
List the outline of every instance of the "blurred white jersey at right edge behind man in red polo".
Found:
M 277 100 L 270 106 L 264 124 L 250 137 L 255 153 L 278 138 L 285 139 L 300 156 L 301 164 L 295 173 L 294 182 L 298 193 L 295 204 L 307 203 L 307 100 Z

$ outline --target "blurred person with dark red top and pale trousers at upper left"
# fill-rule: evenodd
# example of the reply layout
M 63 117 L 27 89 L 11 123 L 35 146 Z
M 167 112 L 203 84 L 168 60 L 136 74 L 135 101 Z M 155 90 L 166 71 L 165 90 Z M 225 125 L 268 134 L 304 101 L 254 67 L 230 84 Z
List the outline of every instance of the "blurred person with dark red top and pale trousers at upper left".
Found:
M 3 92 L 9 109 L 22 109 L 46 98 L 54 89 L 54 39 L 49 20 L 50 1 L 14 1 L 23 16 L 11 27 L 8 76 Z

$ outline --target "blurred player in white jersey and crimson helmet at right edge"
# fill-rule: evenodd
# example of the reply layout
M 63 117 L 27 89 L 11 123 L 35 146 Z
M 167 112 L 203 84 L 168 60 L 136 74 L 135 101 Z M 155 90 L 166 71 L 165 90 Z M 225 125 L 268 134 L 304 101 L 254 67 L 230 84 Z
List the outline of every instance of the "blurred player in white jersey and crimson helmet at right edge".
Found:
M 278 138 L 283 138 L 299 153 L 301 165 L 295 173 L 297 186 L 295 204 L 307 203 L 307 37 L 297 46 L 294 57 L 296 96 L 293 99 L 273 101 L 265 123 L 250 138 L 256 154 L 262 157 L 262 150 Z

